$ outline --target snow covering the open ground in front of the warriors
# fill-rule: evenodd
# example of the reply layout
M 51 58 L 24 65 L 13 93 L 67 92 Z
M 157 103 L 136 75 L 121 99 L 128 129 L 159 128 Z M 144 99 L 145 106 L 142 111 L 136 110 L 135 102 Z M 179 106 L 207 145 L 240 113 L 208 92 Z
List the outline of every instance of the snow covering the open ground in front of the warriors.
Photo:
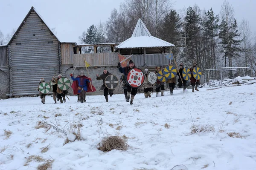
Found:
M 35 170 L 44 162 L 26 162 L 35 155 L 53 159 L 53 170 L 171 170 L 180 164 L 172 170 L 255 170 L 255 89 L 256 84 L 201 88 L 195 93 L 175 90 L 164 97 L 137 94 L 132 106 L 124 95 L 113 95 L 108 103 L 104 96 L 87 96 L 84 104 L 77 103 L 76 96 L 64 104 L 52 104 L 50 96 L 46 104 L 38 97 L 0 100 L 0 169 Z M 84 140 L 64 146 L 63 133 L 35 129 L 38 121 L 57 122 L 65 129 L 69 122 L 81 119 Z M 207 129 L 191 134 L 192 124 Z M 4 130 L 12 132 L 9 138 Z M 231 138 L 227 133 L 232 132 L 245 138 Z M 107 153 L 97 150 L 108 135 L 125 135 L 131 147 Z M 47 146 L 49 150 L 41 153 Z

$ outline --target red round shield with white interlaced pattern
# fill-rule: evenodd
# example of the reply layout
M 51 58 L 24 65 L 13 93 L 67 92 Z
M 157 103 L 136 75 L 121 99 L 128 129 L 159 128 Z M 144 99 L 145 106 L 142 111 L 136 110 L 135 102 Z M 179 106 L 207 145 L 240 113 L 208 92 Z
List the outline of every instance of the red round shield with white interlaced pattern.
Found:
M 134 88 L 138 88 L 144 82 L 144 74 L 141 69 L 131 69 L 127 74 L 127 83 Z

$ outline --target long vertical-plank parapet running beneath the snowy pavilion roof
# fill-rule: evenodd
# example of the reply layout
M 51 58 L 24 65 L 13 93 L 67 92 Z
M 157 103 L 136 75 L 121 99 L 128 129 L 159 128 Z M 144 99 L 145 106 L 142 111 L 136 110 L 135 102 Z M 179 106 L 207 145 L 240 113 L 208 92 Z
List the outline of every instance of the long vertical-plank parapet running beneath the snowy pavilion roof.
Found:
M 166 54 L 149 54 L 146 55 L 147 66 L 159 66 L 169 64 L 169 60 L 165 57 Z M 129 55 L 125 55 L 128 57 Z M 90 53 L 90 54 L 75 54 L 74 66 L 84 66 L 84 58 L 91 66 L 115 66 L 119 62 L 117 53 Z M 144 66 L 144 55 L 133 55 L 131 60 L 135 65 Z

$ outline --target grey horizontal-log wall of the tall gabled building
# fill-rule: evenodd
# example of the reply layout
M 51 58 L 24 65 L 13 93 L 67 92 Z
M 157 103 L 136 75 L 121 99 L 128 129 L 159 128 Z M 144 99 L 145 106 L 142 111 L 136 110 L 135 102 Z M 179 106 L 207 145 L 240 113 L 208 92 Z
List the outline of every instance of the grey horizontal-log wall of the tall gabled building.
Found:
M 58 43 L 40 17 L 32 12 L 10 44 L 13 95 L 38 94 L 40 78 L 48 82 L 55 71 L 58 73 Z

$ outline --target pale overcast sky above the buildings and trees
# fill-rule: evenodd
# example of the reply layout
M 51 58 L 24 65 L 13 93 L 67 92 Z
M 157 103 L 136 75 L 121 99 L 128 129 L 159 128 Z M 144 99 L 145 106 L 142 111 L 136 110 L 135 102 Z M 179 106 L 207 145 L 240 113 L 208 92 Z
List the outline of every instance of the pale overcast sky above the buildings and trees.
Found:
M 77 42 L 78 37 L 87 28 L 110 17 L 111 10 L 119 9 L 119 3 L 125 0 L 0 0 L 0 30 L 6 35 L 17 29 L 31 6 L 41 14 L 50 28 L 55 27 L 61 41 Z M 174 0 L 173 8 L 194 6 L 200 9 L 212 7 L 215 14 L 221 10 L 224 0 Z M 256 0 L 229 0 L 235 17 L 240 22 L 246 18 L 253 34 L 256 32 Z

